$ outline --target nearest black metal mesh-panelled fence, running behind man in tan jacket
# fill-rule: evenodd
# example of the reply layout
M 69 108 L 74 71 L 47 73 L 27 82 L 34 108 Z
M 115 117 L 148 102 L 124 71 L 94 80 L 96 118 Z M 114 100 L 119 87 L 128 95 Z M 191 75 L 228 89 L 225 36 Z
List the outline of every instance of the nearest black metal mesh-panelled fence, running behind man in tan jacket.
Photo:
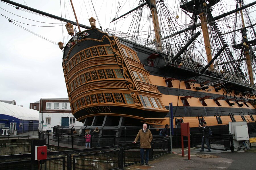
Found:
M 150 159 L 169 151 L 163 146 L 170 147 L 170 138 L 153 139 L 150 148 Z M 13 169 L 123 169 L 140 162 L 139 144 L 116 145 L 100 148 L 48 152 L 47 160 L 41 165 L 31 164 L 31 154 L 0 156 L 0 167 L 5 170 Z M 39 167 L 38 167 L 39 166 Z

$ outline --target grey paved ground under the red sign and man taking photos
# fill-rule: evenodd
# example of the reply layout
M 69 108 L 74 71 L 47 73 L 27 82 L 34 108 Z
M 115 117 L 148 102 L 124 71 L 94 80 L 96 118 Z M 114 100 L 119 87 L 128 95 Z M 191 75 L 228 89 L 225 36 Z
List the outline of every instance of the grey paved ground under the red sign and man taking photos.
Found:
M 220 151 L 212 150 L 212 152 L 200 152 L 200 148 L 191 148 L 188 160 L 187 148 L 184 149 L 185 156 L 182 157 L 181 149 L 172 149 L 172 154 L 164 154 L 154 160 L 149 160 L 149 165 L 140 166 L 139 163 L 125 167 L 124 169 L 172 169 L 172 170 L 251 170 L 256 169 L 256 148 L 244 151 Z

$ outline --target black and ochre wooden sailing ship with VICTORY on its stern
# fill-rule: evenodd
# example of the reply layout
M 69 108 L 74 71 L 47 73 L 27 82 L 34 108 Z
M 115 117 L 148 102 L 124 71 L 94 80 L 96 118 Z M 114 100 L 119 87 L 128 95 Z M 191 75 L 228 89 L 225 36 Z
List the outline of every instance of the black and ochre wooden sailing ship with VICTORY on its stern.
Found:
M 72 38 L 59 48 L 73 115 L 84 126 L 146 123 L 155 134 L 169 122 L 172 132 L 183 122 L 192 132 L 207 122 L 228 133 L 228 122 L 246 121 L 254 133 L 256 32 L 248 9 L 255 4 L 237 0 L 217 14 L 220 0 L 181 0 L 186 24 L 165 1 L 140 1 L 112 21 L 130 18 L 128 33 L 99 29 L 94 18 L 79 32 L 73 25 L 83 25 L 68 23 Z M 154 31 L 144 31 L 143 9 Z

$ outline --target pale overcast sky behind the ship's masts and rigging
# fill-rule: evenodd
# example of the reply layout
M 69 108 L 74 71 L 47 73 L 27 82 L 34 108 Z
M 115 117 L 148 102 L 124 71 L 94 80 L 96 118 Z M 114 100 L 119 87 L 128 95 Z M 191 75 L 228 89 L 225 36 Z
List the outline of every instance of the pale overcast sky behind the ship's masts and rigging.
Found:
M 75 21 L 74 15 L 71 12 L 69 0 L 61 1 L 61 5 L 59 0 L 13 1 L 59 17 L 61 17 L 62 8 L 62 17 Z M 102 29 L 106 27 L 113 29 L 113 25 L 110 24 L 110 20 L 114 18 L 117 6 L 121 6 L 121 8 L 123 8 L 123 12 L 118 14 L 118 16 L 120 16 L 137 5 L 137 3 L 134 3 L 131 0 L 122 1 L 121 5 L 118 5 L 118 1 L 114 0 L 92 1 L 94 3 L 95 10 L 97 11 Z M 169 4 L 173 2 L 175 1 L 168 1 Z M 234 2 L 234 0 L 232 0 L 232 2 Z M 253 0 L 247 0 L 246 2 L 251 3 Z M 73 4 L 80 24 L 89 26 L 88 18 L 94 17 L 97 19 L 91 5 L 91 0 L 73 0 Z M 123 4 L 125 4 L 124 7 Z M 16 105 L 23 105 L 23 107 L 29 108 L 29 103 L 38 101 L 40 97 L 68 98 L 61 65 L 63 52 L 56 44 L 61 41 L 64 42 L 65 45 L 71 38 L 67 35 L 65 26 L 63 27 L 63 35 L 61 26 L 48 27 L 61 25 L 61 22 L 58 20 L 35 15 L 27 10 L 21 10 L 21 8 L 17 10 L 13 5 L 8 5 L 2 1 L 0 1 L 0 7 L 0 100 L 16 100 Z M 64 8 L 66 9 L 66 12 L 64 12 Z M 235 7 L 232 7 L 232 9 L 234 8 Z M 12 22 L 9 22 L 8 19 L 2 15 L 10 18 Z M 20 16 L 24 18 L 21 18 Z M 30 21 L 28 19 L 55 24 L 40 23 Z M 45 39 L 42 39 L 13 23 L 19 24 L 55 43 L 46 41 Z M 125 25 L 120 25 L 122 28 L 125 27 Z M 98 21 L 96 22 L 96 27 L 99 27 Z M 83 30 L 84 29 L 82 28 L 82 31 Z

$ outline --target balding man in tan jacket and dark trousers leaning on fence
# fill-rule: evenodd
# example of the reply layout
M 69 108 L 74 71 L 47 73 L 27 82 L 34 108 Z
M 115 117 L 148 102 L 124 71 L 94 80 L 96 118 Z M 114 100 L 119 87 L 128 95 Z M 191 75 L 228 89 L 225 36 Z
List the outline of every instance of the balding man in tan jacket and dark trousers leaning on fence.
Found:
M 147 129 L 147 124 L 143 124 L 143 129 L 139 130 L 139 133 L 137 134 L 135 140 L 133 143 L 136 143 L 138 139 L 140 138 L 140 143 L 141 143 L 141 164 L 144 165 L 144 153 L 146 150 L 146 165 L 148 165 L 148 158 L 149 158 L 149 149 L 151 148 L 151 141 L 153 139 L 152 133 L 150 132 L 149 129 Z

